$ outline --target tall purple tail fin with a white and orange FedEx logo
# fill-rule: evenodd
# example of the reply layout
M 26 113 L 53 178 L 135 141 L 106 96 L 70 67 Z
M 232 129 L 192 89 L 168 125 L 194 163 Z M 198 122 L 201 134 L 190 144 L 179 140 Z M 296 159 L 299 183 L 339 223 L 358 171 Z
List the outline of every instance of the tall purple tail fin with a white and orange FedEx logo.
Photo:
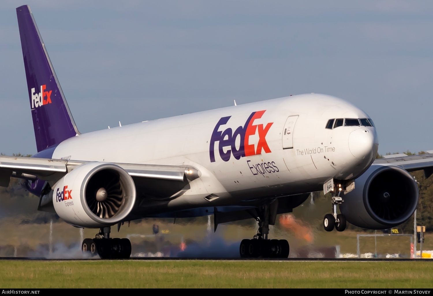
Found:
M 16 9 L 36 148 L 42 151 L 79 135 L 28 5 Z

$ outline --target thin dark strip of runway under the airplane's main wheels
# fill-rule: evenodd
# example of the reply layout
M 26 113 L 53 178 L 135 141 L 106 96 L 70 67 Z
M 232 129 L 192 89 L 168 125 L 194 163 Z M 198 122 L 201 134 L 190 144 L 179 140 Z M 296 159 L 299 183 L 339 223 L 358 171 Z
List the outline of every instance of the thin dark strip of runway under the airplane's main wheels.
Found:
M 429 258 L 170 258 L 170 257 L 131 257 L 129 259 L 99 259 L 99 258 L 43 258 L 43 257 L 0 257 L 0 260 L 23 261 L 100 261 L 100 260 L 127 260 L 127 261 L 350 261 L 350 262 L 383 262 L 383 261 L 431 261 Z

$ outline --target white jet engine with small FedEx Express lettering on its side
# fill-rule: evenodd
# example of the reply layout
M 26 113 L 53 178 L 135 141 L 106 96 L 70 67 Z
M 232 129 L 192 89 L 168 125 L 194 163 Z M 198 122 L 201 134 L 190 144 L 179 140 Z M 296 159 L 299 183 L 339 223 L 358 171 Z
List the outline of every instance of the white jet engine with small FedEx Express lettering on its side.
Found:
M 72 225 L 86 228 L 102 228 L 123 221 L 135 200 L 131 176 L 107 162 L 81 164 L 53 188 L 57 215 Z

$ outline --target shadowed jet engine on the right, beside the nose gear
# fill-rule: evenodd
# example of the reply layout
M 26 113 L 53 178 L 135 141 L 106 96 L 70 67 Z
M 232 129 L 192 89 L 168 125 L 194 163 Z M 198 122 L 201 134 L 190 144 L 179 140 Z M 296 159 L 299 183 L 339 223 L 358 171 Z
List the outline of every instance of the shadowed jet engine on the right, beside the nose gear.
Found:
M 418 186 L 411 174 L 393 165 L 372 165 L 339 208 L 355 226 L 387 229 L 409 219 L 417 204 Z

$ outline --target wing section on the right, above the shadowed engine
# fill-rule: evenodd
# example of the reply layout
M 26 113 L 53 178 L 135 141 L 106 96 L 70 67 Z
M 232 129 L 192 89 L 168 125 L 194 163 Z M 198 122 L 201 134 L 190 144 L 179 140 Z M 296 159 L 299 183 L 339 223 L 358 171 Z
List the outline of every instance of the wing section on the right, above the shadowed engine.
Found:
M 433 174 L 432 153 L 417 155 L 396 154 L 395 157 L 392 156 L 393 155 L 386 155 L 386 157 L 384 158 L 376 159 L 373 164 L 397 165 L 409 172 L 423 170 L 426 178 L 430 177 Z

